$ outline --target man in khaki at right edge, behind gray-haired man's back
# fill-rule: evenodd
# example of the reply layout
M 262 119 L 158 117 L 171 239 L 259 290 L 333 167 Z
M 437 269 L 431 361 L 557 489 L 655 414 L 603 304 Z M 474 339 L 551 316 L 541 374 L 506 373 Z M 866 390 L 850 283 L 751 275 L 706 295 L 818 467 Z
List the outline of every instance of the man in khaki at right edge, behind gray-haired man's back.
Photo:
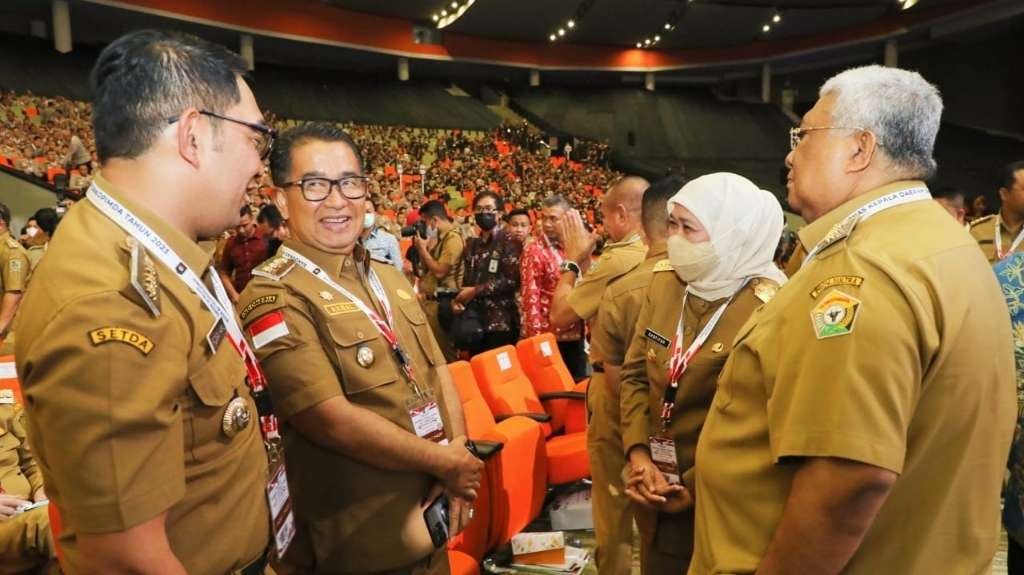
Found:
M 999 202 L 998 214 L 971 222 L 971 235 L 992 264 L 1015 252 L 1024 252 L 1024 162 L 1002 169 Z

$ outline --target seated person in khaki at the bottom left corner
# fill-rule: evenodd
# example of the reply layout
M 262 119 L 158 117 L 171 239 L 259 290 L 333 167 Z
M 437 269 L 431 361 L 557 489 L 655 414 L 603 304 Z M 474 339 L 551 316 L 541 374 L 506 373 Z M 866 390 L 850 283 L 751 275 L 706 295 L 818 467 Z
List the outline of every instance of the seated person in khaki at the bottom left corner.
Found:
M 22 573 L 50 562 L 56 572 L 46 505 L 18 511 L 45 500 L 43 474 L 25 431 L 25 411 L 14 403 L 11 390 L 0 390 L 0 573 Z

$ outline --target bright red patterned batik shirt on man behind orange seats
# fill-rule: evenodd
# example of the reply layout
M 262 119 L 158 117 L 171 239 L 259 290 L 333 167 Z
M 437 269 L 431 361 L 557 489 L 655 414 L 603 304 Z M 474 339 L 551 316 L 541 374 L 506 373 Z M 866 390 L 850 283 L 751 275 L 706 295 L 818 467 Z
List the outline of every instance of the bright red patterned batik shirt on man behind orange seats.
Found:
M 565 259 L 560 248 L 550 245 L 547 237 L 530 241 L 522 252 L 519 269 L 522 282 L 522 337 L 553 333 L 561 342 L 583 339 L 583 321 L 565 329 L 551 327 L 551 298 L 561 273 L 558 266 Z

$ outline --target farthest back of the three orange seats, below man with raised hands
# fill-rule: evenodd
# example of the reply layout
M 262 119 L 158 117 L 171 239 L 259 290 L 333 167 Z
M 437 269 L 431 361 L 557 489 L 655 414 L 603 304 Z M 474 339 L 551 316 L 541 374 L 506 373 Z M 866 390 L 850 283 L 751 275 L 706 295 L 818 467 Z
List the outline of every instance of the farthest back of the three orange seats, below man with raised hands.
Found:
M 516 344 L 519 363 L 534 385 L 534 391 L 551 415 L 551 427 L 565 433 L 587 430 L 587 386 L 590 380 L 572 381 L 562 361 L 553 334 L 541 334 Z

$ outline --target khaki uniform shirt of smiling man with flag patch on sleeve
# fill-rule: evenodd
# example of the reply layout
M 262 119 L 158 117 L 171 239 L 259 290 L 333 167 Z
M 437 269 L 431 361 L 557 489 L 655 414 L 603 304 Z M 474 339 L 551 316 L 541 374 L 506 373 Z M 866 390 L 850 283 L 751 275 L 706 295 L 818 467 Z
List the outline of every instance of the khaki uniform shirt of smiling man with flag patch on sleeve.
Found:
M 361 248 L 353 256 L 341 256 L 294 240 L 285 246 L 334 274 L 336 282 L 384 317 L 366 280 L 367 266 L 377 272 L 398 341 L 420 386 L 433 391 L 451 438 L 436 372 L 444 357 L 404 276 L 389 263 L 369 260 Z M 239 309 L 247 325 L 282 313 L 287 326 L 287 334 L 261 345 L 256 354 L 274 411 L 286 424 L 285 452 L 298 523 L 288 561 L 313 573 L 354 573 L 407 566 L 433 552 L 420 502 L 434 478 L 360 462 L 321 447 L 287 425 L 296 413 L 344 394 L 354 405 L 415 433 L 407 408 L 415 394 L 377 327 L 344 296 L 280 257 L 254 270 Z

